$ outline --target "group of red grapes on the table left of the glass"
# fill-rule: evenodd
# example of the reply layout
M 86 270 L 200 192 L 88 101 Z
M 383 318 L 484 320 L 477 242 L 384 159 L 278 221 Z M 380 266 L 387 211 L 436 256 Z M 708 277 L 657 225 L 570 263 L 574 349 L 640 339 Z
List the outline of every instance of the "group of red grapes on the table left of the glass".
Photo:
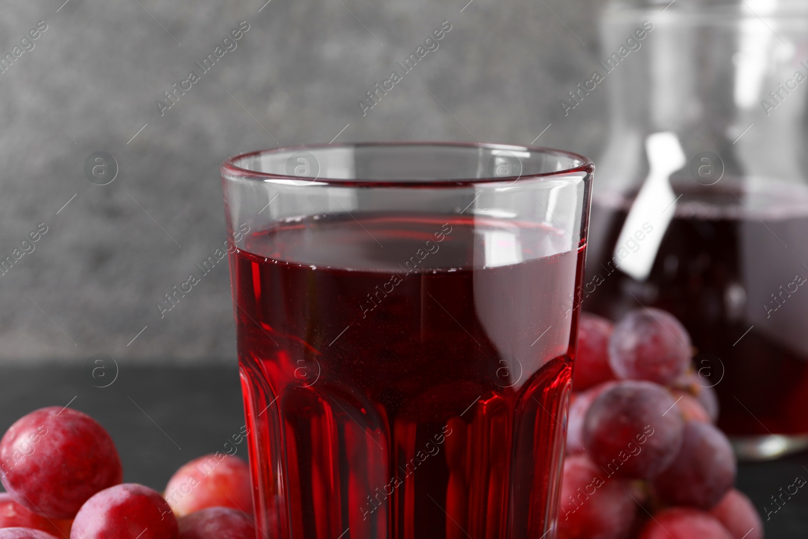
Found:
M 53 406 L 0 440 L 0 539 L 255 539 L 250 470 L 223 453 L 183 465 L 165 497 L 122 483 L 112 437 L 89 415 Z

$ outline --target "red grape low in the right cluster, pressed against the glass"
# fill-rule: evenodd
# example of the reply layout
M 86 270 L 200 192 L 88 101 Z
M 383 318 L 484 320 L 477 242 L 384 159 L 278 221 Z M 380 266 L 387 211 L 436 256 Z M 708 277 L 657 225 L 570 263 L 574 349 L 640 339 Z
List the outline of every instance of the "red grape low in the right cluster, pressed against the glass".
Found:
M 634 490 L 628 479 L 609 478 L 585 455 L 567 457 L 558 539 L 622 539 L 637 512 Z

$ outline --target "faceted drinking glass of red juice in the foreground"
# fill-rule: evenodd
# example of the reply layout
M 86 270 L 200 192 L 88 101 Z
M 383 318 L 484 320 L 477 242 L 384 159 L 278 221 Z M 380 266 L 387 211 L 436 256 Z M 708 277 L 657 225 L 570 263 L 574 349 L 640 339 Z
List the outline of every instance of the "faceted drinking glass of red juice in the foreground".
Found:
M 258 537 L 552 537 L 593 171 L 417 142 L 223 163 Z

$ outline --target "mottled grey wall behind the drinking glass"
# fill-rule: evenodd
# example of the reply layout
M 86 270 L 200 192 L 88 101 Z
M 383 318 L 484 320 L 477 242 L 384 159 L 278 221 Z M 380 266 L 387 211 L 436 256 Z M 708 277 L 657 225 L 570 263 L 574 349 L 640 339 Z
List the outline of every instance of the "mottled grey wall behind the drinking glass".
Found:
M 338 141 L 528 144 L 552 124 L 537 145 L 604 145 L 606 91 L 567 117 L 559 104 L 597 63 L 599 0 L 62 2 L 2 6 L 3 56 L 48 24 L 0 74 L 0 259 L 48 226 L 0 276 L 2 361 L 234 360 L 224 262 L 166 318 L 156 307 L 225 239 L 230 154 L 346 124 Z M 156 100 L 242 20 L 238 48 L 160 116 Z M 444 20 L 440 48 L 363 117 L 357 101 Z M 99 150 L 120 166 L 106 186 L 84 174 Z

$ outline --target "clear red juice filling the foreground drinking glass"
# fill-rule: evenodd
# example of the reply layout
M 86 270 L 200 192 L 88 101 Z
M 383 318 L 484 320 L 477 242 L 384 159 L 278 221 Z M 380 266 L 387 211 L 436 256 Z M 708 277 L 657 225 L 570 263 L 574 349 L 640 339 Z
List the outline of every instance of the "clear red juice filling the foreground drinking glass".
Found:
M 259 526 L 542 537 L 583 244 L 480 217 L 354 217 L 288 222 L 231 258 Z

